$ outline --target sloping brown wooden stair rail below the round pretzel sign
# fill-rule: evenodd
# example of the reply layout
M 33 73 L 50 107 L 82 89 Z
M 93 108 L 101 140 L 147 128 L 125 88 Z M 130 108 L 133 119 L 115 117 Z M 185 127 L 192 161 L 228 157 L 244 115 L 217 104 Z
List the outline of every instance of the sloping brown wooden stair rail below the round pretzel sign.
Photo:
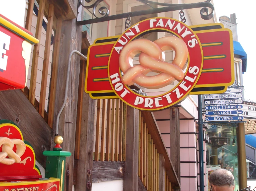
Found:
M 163 154 L 165 158 L 165 168 L 167 171 L 167 175 L 170 178 L 173 185 L 180 188 L 180 183 L 177 178 L 176 172 L 173 167 L 173 163 L 169 158 L 168 152 L 166 150 L 164 140 L 162 139 L 160 130 L 157 126 L 156 119 L 152 112 L 141 111 L 144 122 L 147 123 L 147 128 L 151 136 L 153 136 L 153 140 L 155 142 L 155 147 L 159 154 Z M 176 160 L 176 159 L 175 159 Z

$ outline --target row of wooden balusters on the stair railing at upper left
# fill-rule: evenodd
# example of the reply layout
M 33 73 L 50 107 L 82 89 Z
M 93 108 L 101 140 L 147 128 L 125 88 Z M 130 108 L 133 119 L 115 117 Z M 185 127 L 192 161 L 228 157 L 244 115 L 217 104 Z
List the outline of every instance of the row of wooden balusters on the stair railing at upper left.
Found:
M 23 89 L 25 94 L 28 94 L 29 101 L 34 105 L 36 110 L 39 112 L 42 117 L 48 122 L 48 125 L 52 128 L 53 126 L 53 114 L 54 114 L 54 105 L 55 105 L 55 95 L 56 95 L 56 79 L 58 73 L 58 62 L 59 62 L 59 51 L 60 51 L 60 33 L 61 33 L 61 23 L 62 19 L 57 19 L 55 14 L 55 6 L 54 4 L 49 4 L 47 0 L 37 0 L 39 4 L 39 10 L 37 15 L 37 23 L 36 23 L 36 33 L 35 37 L 39 40 L 38 44 L 34 45 L 33 49 L 33 57 L 32 57 L 32 69 L 30 75 L 30 86 L 29 91 L 28 88 Z M 32 17 L 33 17 L 33 8 L 34 8 L 35 0 L 28 0 L 28 9 L 26 15 L 26 24 L 25 28 L 31 31 L 32 28 Z M 38 75 L 38 58 L 40 51 L 40 43 L 41 43 L 41 34 L 42 34 L 42 23 L 43 17 L 47 19 L 47 29 L 46 29 L 46 39 L 45 39 L 45 47 L 44 47 L 44 58 L 43 58 L 43 70 L 41 82 L 37 81 Z M 53 52 L 52 52 L 52 61 L 50 60 L 50 49 L 51 49 L 51 40 L 52 34 L 54 33 L 54 42 L 53 42 Z M 51 71 L 51 85 L 50 90 L 47 93 L 47 78 L 48 78 L 48 67 L 49 61 L 52 62 L 52 71 Z M 40 99 L 39 102 L 35 99 L 36 94 L 36 83 L 41 83 L 40 90 Z M 38 91 L 38 90 L 37 90 Z M 48 113 L 45 111 L 45 102 L 49 99 L 48 104 Z M 45 116 L 47 115 L 47 116 Z

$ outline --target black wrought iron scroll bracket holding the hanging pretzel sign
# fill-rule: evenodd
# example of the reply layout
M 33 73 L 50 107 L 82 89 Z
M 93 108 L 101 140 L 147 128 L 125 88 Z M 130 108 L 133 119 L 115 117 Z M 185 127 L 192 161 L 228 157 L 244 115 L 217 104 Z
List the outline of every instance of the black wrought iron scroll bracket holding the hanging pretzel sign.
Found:
M 85 1 L 85 3 L 90 3 L 92 0 L 84 0 L 84 1 Z M 161 12 L 168 12 L 168 11 L 185 10 L 185 9 L 195 9 L 195 8 L 202 8 L 200 10 L 200 15 L 201 15 L 201 18 L 204 20 L 209 20 L 214 15 L 213 14 L 214 7 L 213 7 L 213 4 L 210 3 L 211 0 L 206 0 L 206 1 L 200 2 L 200 3 L 189 3 L 189 4 L 169 4 L 169 3 L 158 3 L 158 2 L 153 2 L 153 1 L 149 1 L 149 0 L 136 0 L 136 1 L 139 1 L 139 2 L 149 6 L 151 9 L 109 16 L 108 8 L 103 6 L 98 9 L 98 12 L 102 17 L 97 17 L 96 7 L 100 6 L 99 4 L 101 1 L 104 1 L 104 0 L 96 0 L 95 3 L 93 3 L 89 6 L 86 6 L 85 4 L 83 4 L 82 0 L 78 0 L 77 25 L 85 25 L 85 24 L 92 24 L 92 23 L 98 23 L 98 22 L 104 22 L 104 21 L 111 21 L 111 20 L 116 20 L 116 19 L 123 19 L 123 18 L 127 18 L 127 16 L 135 17 L 135 16 L 146 15 L 146 14 L 154 14 L 154 13 L 161 13 Z M 153 5 L 164 6 L 164 7 L 154 8 Z M 93 8 L 92 12 L 93 12 L 94 17 L 96 17 L 96 18 L 88 19 L 88 20 L 79 20 L 78 18 L 81 18 L 80 14 L 82 14 L 82 8 L 86 8 L 86 9 Z M 211 9 L 210 13 L 208 11 L 208 8 Z

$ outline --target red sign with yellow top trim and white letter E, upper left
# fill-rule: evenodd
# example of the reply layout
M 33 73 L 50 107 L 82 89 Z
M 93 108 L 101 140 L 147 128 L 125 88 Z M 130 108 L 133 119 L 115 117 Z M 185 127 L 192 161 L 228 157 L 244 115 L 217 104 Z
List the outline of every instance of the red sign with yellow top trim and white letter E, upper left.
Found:
M 26 87 L 32 33 L 0 14 L 0 91 Z

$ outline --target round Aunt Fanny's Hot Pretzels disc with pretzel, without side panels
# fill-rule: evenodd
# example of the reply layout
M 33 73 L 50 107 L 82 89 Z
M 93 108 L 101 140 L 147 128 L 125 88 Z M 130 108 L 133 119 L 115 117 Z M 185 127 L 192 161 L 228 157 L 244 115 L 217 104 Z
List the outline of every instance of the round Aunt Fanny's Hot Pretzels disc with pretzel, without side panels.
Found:
M 175 36 L 152 42 L 137 39 L 148 32 L 169 32 Z M 165 50 L 175 51 L 172 63 L 165 62 Z M 133 66 L 133 58 L 139 63 Z M 136 23 L 116 41 L 108 62 L 108 76 L 115 94 L 126 104 L 141 110 L 160 110 L 178 104 L 194 88 L 203 66 L 200 40 L 184 23 L 169 18 L 153 18 Z M 155 76 L 146 76 L 149 72 Z M 123 75 L 122 75 L 123 73 Z M 170 91 L 159 96 L 142 96 L 128 86 L 138 84 L 147 89 L 165 87 L 178 80 Z

